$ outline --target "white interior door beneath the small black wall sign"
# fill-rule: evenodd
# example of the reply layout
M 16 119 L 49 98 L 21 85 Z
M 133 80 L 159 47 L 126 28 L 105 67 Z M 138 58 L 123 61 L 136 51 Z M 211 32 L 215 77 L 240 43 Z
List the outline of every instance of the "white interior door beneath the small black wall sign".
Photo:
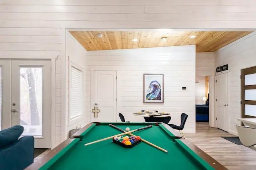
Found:
M 228 80 L 227 73 L 216 76 L 216 126 L 228 131 Z

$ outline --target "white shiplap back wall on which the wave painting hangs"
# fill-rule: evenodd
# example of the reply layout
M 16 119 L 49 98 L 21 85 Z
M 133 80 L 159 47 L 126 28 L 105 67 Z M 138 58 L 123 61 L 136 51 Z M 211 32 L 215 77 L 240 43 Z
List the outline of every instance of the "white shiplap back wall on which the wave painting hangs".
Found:
M 169 54 L 169 61 L 158 55 Z M 180 114 L 188 114 L 186 133 L 195 132 L 195 46 L 157 47 L 145 49 L 87 51 L 86 55 L 86 115 L 91 120 L 91 71 L 116 70 L 118 75 L 118 110 L 129 121 L 144 121 L 132 113 L 145 110 L 172 113 L 171 123 L 180 123 Z M 164 74 L 164 104 L 143 103 L 143 74 Z M 187 90 L 182 90 L 187 87 Z M 118 121 L 120 121 L 118 117 Z

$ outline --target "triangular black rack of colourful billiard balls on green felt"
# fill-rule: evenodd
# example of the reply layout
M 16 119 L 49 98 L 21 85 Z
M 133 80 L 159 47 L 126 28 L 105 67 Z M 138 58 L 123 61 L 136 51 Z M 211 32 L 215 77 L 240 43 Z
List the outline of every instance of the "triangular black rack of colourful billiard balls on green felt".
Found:
M 140 143 L 141 139 L 139 136 L 115 136 L 113 137 L 112 142 L 125 148 L 132 148 L 138 143 Z

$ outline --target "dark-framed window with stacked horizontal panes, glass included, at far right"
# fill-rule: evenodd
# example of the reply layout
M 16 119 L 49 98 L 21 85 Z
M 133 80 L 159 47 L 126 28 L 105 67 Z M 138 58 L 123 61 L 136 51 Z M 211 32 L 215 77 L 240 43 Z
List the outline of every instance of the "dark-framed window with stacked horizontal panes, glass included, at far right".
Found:
M 256 66 L 242 70 L 242 118 L 256 118 Z

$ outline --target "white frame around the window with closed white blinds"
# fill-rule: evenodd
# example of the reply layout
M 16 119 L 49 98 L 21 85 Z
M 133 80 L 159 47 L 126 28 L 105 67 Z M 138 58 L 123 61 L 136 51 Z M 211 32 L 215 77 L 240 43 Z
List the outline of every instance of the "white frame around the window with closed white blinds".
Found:
M 74 117 L 70 117 L 71 116 L 71 77 L 72 77 L 72 75 L 71 75 L 71 72 L 72 72 L 72 70 L 71 70 L 71 68 L 75 68 L 75 69 L 77 69 L 77 70 L 80 70 L 81 71 L 81 73 L 82 73 L 82 79 L 81 79 L 81 83 L 82 83 L 82 103 L 83 103 L 83 101 L 84 101 L 84 70 L 83 70 L 83 68 L 81 67 L 81 66 L 79 66 L 78 64 L 76 64 L 76 63 L 74 63 L 74 62 L 70 62 L 70 66 L 69 66 L 69 88 L 68 88 L 68 90 L 69 90 L 69 94 L 68 94 L 68 99 L 69 99 L 69 102 L 68 102 L 68 106 L 69 106 L 69 109 L 68 109 L 68 126 L 70 126 L 70 125 L 73 125 L 73 124 L 75 124 L 76 122 L 78 122 L 80 119 L 82 119 L 82 117 L 83 117 L 83 112 L 84 112 L 84 107 L 83 107 L 83 104 L 82 104 L 82 106 L 81 106 L 81 108 L 82 108 L 82 111 L 81 111 L 81 114 L 79 114 L 79 115 L 75 115 Z

